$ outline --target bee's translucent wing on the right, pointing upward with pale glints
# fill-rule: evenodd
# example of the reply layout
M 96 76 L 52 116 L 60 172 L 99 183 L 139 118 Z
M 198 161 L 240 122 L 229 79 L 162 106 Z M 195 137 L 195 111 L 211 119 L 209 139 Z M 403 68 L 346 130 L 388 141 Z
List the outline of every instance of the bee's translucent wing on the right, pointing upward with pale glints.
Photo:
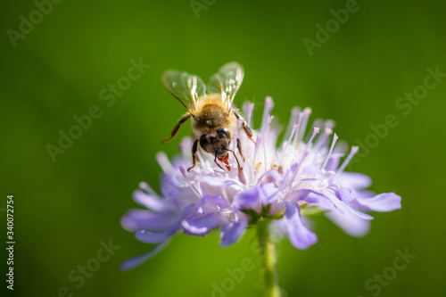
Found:
M 211 77 L 208 84 L 208 93 L 221 95 L 223 104 L 227 111 L 230 111 L 235 93 L 242 85 L 243 80 L 244 67 L 237 62 L 229 62 Z

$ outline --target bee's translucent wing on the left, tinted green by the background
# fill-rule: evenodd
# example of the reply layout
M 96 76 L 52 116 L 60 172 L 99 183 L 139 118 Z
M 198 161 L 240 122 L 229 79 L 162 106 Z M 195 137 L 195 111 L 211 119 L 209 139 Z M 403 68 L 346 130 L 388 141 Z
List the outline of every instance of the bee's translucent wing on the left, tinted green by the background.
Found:
M 195 114 L 197 100 L 203 97 L 206 92 L 206 85 L 202 78 L 187 72 L 167 70 L 162 75 L 162 83 L 190 114 Z

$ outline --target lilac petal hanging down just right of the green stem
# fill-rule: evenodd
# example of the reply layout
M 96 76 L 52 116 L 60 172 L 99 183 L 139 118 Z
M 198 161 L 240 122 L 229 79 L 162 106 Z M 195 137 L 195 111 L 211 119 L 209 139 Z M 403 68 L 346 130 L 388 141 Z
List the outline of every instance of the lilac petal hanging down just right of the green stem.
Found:
M 284 220 L 288 229 L 288 238 L 294 247 L 305 250 L 318 242 L 318 237 L 303 224 L 300 209 L 296 203 L 286 202 Z

